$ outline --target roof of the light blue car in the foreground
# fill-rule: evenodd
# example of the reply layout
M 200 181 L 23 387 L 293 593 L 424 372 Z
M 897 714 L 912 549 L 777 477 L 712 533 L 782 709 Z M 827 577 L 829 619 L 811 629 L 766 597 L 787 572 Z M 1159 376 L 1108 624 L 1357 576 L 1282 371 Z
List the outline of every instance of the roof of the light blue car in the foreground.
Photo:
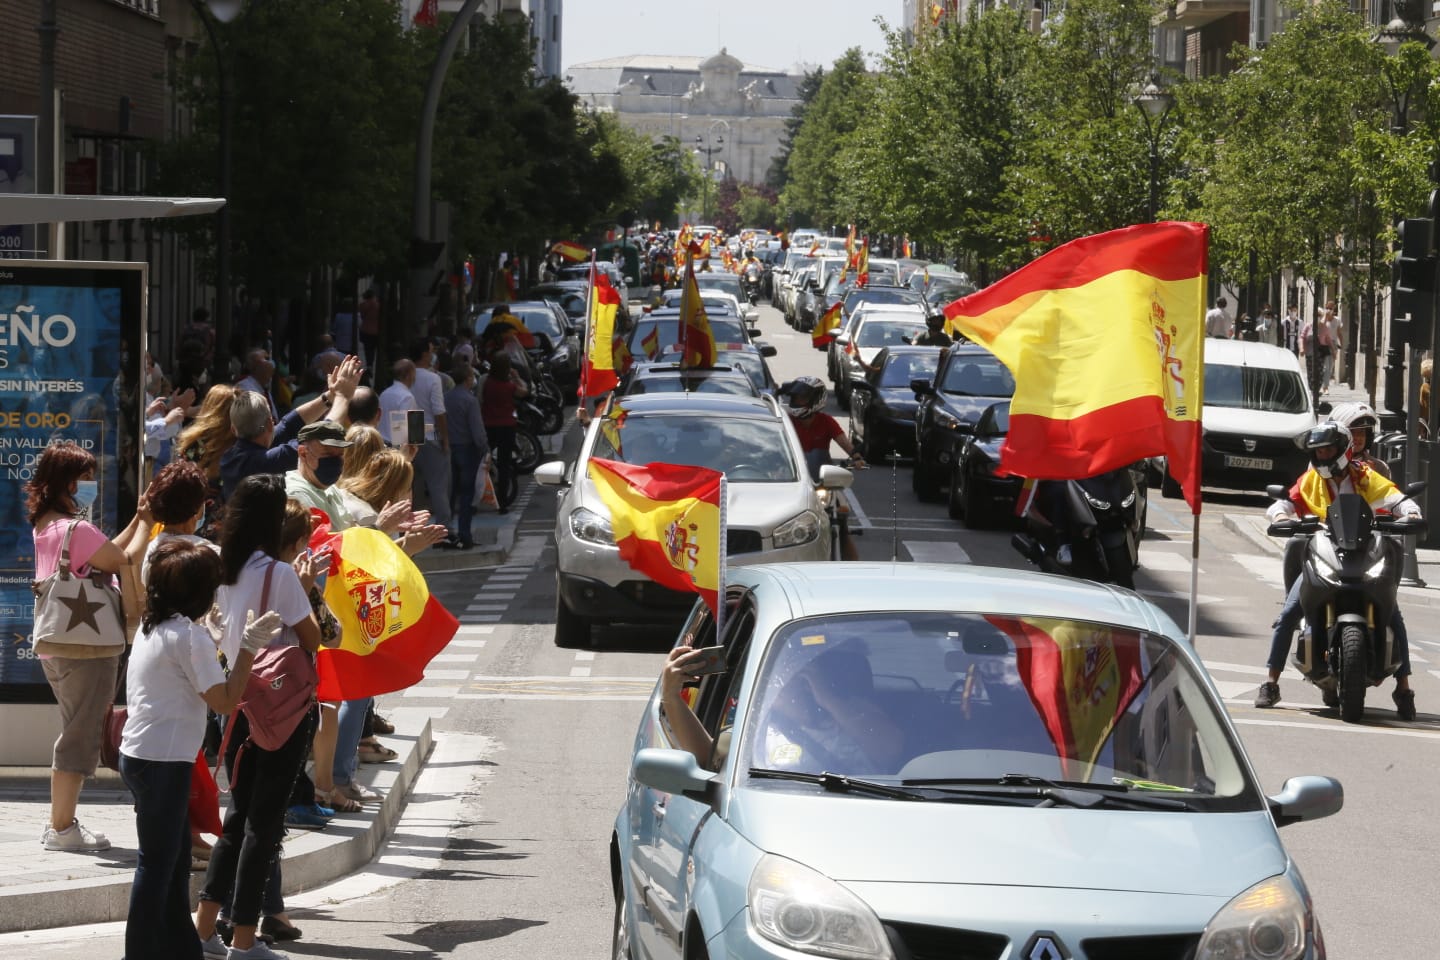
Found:
M 1143 597 L 1109 584 L 1048 573 L 942 563 L 775 563 L 732 567 L 732 583 L 785 594 L 785 619 L 865 610 L 1043 615 L 1185 635 Z

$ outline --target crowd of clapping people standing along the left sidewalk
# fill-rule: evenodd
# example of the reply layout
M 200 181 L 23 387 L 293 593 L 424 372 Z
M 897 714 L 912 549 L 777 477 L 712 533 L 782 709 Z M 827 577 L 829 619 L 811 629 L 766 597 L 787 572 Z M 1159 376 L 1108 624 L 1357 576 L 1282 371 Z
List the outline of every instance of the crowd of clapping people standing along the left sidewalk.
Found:
M 181 344 L 207 367 L 213 335 L 197 320 Z M 118 748 L 107 763 L 134 797 L 138 835 L 131 960 L 284 957 L 271 944 L 300 937 L 281 898 L 285 829 L 323 829 L 382 799 L 356 773 L 396 757 L 376 740 L 393 727 L 372 698 L 312 695 L 317 652 L 344 629 L 324 599 L 330 558 L 310 548 L 315 524 L 370 527 L 412 556 L 468 548 L 475 502 L 513 489 L 490 481 L 507 471 L 524 391 L 503 335 L 454 348 L 419 338 L 383 391 L 360 357 L 328 338 L 318 347 L 294 391 L 264 345 L 233 384 L 190 376 L 174 389 L 147 356 L 147 486 L 112 538 L 88 521 L 96 462 L 79 445 L 46 448 L 26 485 L 35 577 L 53 590 L 36 604 L 35 649 L 62 725 L 40 842 L 109 848 L 79 806 L 102 751 Z M 62 596 L 55 584 L 71 571 L 122 600 L 114 623 L 86 613 L 96 594 Z M 59 626 L 42 630 L 42 619 Z M 294 702 L 261 698 L 256 688 L 284 684 L 252 672 L 308 688 Z M 125 710 L 112 714 L 117 701 Z M 193 869 L 204 882 L 192 915 Z

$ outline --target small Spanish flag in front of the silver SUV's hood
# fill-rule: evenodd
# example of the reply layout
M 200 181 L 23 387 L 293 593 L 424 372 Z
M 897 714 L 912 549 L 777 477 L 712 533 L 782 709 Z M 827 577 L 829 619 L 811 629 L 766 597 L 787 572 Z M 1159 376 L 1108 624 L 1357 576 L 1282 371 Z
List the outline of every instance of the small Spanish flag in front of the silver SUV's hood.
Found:
M 698 593 L 720 617 L 724 590 L 724 474 L 674 463 L 590 458 L 590 482 L 611 511 L 621 560 L 662 587 Z

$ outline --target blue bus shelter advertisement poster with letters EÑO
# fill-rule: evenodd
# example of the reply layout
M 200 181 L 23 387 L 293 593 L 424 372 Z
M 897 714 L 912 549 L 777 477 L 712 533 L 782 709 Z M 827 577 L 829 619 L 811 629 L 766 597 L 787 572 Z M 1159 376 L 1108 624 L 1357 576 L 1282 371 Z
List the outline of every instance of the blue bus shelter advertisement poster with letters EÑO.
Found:
M 50 702 L 30 648 L 35 547 L 24 484 L 50 443 L 95 455 L 89 520 L 135 511 L 144 263 L 0 259 L 0 702 Z

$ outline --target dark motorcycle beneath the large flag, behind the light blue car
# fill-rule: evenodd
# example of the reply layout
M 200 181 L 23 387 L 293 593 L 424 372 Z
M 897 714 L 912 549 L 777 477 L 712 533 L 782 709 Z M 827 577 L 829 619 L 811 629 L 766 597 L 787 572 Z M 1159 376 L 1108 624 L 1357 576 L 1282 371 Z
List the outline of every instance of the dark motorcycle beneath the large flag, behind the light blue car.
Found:
M 1011 537 L 1011 545 L 1020 556 L 1047 573 L 1133 590 L 1143 530 L 1140 491 L 1129 468 L 1086 479 L 1037 482 L 1053 486 L 1035 491 L 1025 510 L 1025 531 Z M 1063 517 L 1045 517 L 1045 507 L 1051 512 L 1063 511 Z M 1068 564 L 1058 558 L 1061 537 L 1057 524 L 1070 531 Z

